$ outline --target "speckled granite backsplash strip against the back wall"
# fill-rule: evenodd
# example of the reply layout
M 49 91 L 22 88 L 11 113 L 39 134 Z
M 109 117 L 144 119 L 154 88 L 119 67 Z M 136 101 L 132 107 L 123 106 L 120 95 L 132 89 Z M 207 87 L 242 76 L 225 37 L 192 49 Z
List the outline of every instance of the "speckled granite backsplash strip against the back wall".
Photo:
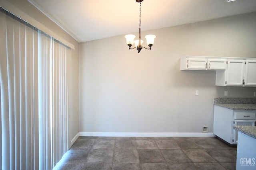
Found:
M 256 98 L 214 98 L 214 104 L 256 104 Z

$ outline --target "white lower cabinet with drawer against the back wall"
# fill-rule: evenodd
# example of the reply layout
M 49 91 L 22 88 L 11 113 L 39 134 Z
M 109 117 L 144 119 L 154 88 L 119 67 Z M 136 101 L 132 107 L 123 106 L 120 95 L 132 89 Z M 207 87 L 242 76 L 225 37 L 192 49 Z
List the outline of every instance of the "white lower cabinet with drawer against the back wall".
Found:
M 255 126 L 255 110 L 233 110 L 214 106 L 213 133 L 230 145 L 237 145 L 238 132 L 233 126 Z

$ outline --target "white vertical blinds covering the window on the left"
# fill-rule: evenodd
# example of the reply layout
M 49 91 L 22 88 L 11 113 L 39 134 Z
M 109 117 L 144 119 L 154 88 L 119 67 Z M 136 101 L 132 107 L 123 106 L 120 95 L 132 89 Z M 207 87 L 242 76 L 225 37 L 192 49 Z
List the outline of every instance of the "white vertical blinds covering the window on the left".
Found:
M 71 52 L 0 10 L 0 167 L 52 169 L 68 149 Z

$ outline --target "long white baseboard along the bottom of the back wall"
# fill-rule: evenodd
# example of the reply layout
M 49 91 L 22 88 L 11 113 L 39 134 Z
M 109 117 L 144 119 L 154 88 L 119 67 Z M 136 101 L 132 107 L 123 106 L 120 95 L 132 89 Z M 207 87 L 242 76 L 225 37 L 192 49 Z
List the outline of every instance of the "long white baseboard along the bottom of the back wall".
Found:
M 122 133 L 122 132 L 79 132 L 79 136 L 97 137 L 214 137 L 213 133 Z

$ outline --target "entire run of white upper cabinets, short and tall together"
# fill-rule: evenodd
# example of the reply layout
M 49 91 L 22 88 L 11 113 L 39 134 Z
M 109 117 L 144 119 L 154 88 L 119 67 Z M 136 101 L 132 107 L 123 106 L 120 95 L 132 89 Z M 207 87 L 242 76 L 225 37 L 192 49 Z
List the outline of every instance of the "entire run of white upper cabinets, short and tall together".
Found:
M 256 87 L 256 58 L 186 56 L 180 70 L 216 70 L 216 86 Z

